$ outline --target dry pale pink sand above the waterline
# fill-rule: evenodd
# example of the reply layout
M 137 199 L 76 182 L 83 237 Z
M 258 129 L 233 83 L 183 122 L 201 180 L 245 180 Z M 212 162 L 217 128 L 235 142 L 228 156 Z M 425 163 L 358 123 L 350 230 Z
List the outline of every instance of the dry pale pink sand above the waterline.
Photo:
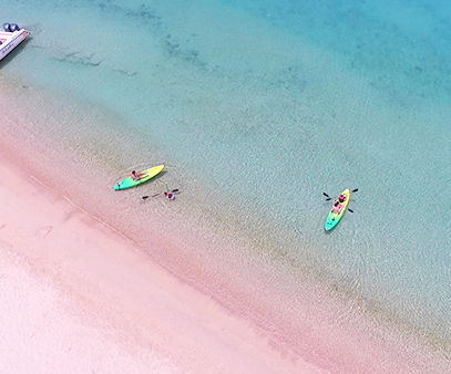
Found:
M 30 176 L 0 173 L 2 373 L 320 373 Z

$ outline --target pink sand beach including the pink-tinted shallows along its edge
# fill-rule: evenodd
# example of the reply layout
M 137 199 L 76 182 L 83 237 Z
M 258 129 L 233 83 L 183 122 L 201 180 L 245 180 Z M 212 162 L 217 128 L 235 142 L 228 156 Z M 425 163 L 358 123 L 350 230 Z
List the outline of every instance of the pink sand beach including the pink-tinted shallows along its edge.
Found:
M 0 97 L 16 110 L 0 125 L 0 373 L 445 373 L 445 345 L 433 336 L 315 277 L 229 256 L 243 241 L 185 219 L 188 198 L 135 202 L 145 232 L 140 219 L 109 217 L 109 204 L 130 207 L 139 193 L 107 195 L 111 180 L 101 180 L 88 196 L 70 184 L 83 176 L 82 157 L 53 152 L 32 124 L 81 120 L 58 105 L 42 114 L 50 100 L 16 86 Z M 177 215 L 163 221 L 157 209 Z

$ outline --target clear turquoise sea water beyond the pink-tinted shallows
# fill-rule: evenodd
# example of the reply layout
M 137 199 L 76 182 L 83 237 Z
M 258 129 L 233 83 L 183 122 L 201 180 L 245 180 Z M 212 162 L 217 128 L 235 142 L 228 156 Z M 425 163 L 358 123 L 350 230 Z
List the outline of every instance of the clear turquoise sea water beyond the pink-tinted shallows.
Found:
M 225 231 L 259 217 L 256 236 L 268 226 L 268 237 L 290 233 L 269 257 L 314 257 L 349 298 L 450 344 L 449 1 L 12 0 L 1 9 L 2 21 L 32 33 L 2 75 L 109 112 L 126 142 L 140 139 L 120 160 L 111 156 L 120 141 L 100 144 L 96 157 L 116 167 L 111 180 L 157 154 L 167 183 L 193 198 L 202 190 L 204 209 L 235 217 Z M 345 188 L 359 188 L 353 212 L 326 233 L 322 193 Z M 265 238 L 254 238 L 262 251 Z

